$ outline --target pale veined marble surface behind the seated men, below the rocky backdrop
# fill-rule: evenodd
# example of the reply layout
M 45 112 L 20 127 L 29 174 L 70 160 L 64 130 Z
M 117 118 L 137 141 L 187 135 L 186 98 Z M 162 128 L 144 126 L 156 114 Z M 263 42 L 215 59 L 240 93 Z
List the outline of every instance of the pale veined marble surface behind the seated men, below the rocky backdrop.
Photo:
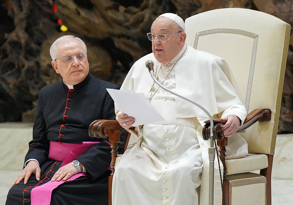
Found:
M 0 123 L 0 204 L 5 204 L 7 192 L 22 169 L 31 134 L 32 124 Z M 11 136 L 19 138 L 16 140 Z M 293 134 L 277 136 L 272 168 L 272 205 L 293 204 L 292 147 Z

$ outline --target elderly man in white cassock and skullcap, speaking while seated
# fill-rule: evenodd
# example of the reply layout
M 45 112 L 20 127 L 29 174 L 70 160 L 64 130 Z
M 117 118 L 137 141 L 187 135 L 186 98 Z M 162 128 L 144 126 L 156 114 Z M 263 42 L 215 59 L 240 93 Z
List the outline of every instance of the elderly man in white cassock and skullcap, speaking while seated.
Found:
M 167 123 L 146 124 L 142 133 L 139 127 L 133 132 L 129 128 L 135 119 L 116 107 L 117 121 L 139 140 L 117 161 L 113 205 L 206 205 L 210 143 L 203 140 L 201 131 L 207 115 L 157 86 L 145 63 L 154 62 L 155 77 L 163 86 L 199 103 L 214 119 L 226 121 L 223 127 L 229 139 L 226 158 L 248 153 L 247 143 L 236 133 L 246 118 L 243 100 L 224 59 L 185 44 L 182 18 L 173 13 L 162 14 L 147 36 L 153 52 L 134 63 L 121 90 L 144 93 Z M 220 205 L 219 170 L 214 173 L 214 204 Z

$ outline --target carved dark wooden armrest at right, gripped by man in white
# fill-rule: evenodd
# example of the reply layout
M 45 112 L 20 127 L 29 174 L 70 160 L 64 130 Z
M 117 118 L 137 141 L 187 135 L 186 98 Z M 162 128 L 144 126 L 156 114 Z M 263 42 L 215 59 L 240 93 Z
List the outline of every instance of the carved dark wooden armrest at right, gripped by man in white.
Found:
M 238 127 L 237 132 L 240 132 L 251 125 L 253 125 L 257 121 L 270 121 L 271 120 L 272 111 L 268 108 L 258 108 L 250 113 L 248 113 L 243 125 Z M 203 139 L 208 140 L 210 138 L 210 121 L 205 121 L 205 125 L 202 129 Z M 222 127 L 226 122 L 214 120 L 214 137 L 217 140 L 222 140 L 224 138 L 224 132 L 222 131 Z

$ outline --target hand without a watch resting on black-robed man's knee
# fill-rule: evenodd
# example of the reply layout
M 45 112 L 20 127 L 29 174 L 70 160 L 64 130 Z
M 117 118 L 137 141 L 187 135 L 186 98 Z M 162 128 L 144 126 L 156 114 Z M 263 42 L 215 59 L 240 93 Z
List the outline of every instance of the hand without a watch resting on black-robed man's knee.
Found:
M 14 184 L 19 184 L 23 179 L 24 179 L 24 184 L 26 184 L 31 174 L 35 174 L 36 180 L 40 181 L 41 169 L 38 162 L 35 160 L 31 160 L 28 162 L 25 168 L 21 171 L 20 175 L 18 175 L 16 180 L 13 182 L 12 186 Z

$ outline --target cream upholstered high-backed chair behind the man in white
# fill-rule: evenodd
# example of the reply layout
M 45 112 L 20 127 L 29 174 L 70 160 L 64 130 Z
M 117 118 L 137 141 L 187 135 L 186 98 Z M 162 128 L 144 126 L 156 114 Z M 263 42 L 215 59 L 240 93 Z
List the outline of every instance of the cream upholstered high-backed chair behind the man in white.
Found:
M 270 121 L 256 122 L 240 132 L 248 143 L 248 156 L 222 160 L 226 165 L 227 205 L 270 205 L 272 160 L 291 27 L 275 16 L 244 8 L 203 12 L 187 18 L 185 27 L 188 45 L 228 62 L 248 113 L 258 108 L 271 110 L 271 116 L 267 116 Z M 260 174 L 253 173 L 257 170 Z

